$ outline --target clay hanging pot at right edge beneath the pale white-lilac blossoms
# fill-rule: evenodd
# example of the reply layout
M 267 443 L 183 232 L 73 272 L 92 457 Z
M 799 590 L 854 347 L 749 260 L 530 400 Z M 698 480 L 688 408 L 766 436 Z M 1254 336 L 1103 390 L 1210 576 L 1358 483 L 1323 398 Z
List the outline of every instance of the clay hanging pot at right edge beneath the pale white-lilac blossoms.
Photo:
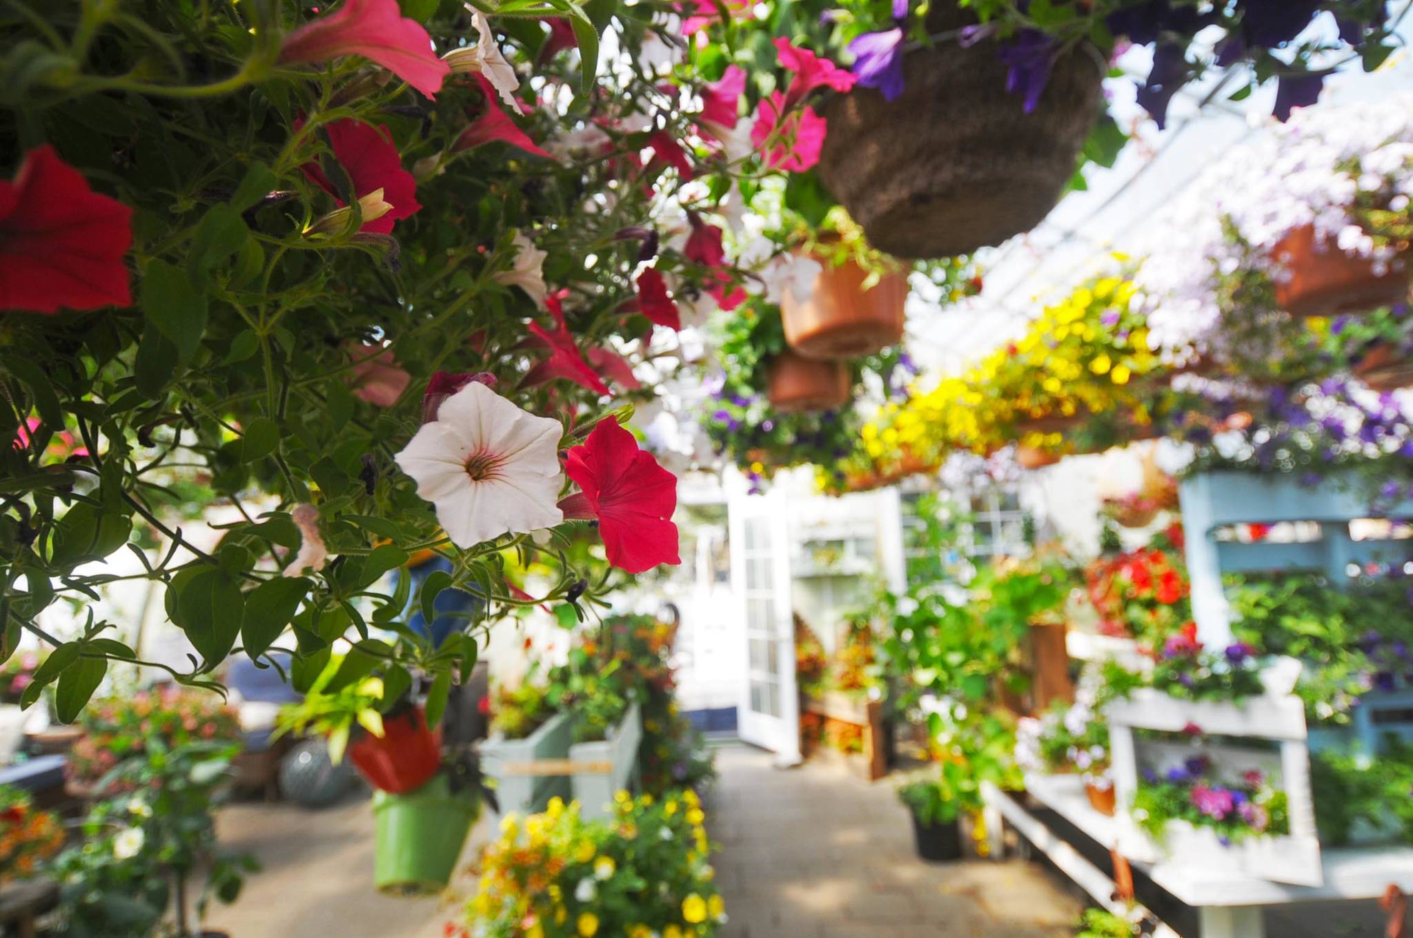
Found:
M 1280 239 L 1273 254 L 1289 273 L 1276 283 L 1276 302 L 1294 316 L 1365 312 L 1407 298 L 1406 270 L 1395 267 L 1379 274 L 1364 257 L 1345 254 L 1330 242 L 1317 244 L 1310 225 Z

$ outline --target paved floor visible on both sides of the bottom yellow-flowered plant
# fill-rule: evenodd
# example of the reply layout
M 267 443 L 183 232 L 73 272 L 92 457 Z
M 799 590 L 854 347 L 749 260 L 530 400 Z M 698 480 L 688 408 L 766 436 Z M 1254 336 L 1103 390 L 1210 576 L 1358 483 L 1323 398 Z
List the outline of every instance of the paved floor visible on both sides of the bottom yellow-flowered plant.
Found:
M 887 780 L 841 766 L 776 770 L 767 753 L 728 746 L 708 825 L 726 913 L 722 938 L 1067 938 L 1080 906 L 1039 867 L 982 860 L 930 865 L 913 850 Z M 442 898 L 373 890 L 373 818 L 363 798 L 325 811 L 247 802 L 220 817 L 222 842 L 263 865 L 208 927 L 232 938 L 441 938 L 473 883 Z M 489 836 L 473 831 L 465 857 Z M 456 896 L 459 893 L 459 897 Z

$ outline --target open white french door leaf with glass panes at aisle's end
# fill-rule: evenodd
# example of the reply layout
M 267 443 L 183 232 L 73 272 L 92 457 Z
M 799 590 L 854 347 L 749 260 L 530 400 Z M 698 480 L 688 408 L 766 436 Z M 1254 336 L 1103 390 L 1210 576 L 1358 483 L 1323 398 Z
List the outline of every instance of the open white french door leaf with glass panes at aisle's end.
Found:
M 777 764 L 793 766 L 800 761 L 800 698 L 786 506 L 779 489 L 738 496 L 729 504 L 729 530 L 732 592 L 746 646 L 738 732 L 742 740 L 776 753 Z

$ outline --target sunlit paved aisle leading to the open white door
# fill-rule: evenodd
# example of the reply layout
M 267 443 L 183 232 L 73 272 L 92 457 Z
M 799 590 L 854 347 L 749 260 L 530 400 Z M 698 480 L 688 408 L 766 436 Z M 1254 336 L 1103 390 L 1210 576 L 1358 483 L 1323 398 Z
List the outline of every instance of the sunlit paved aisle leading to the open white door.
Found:
M 708 828 L 723 938 L 1061 938 L 1081 906 L 1037 866 L 917 859 L 889 780 L 842 766 L 781 771 L 746 746 L 716 752 Z

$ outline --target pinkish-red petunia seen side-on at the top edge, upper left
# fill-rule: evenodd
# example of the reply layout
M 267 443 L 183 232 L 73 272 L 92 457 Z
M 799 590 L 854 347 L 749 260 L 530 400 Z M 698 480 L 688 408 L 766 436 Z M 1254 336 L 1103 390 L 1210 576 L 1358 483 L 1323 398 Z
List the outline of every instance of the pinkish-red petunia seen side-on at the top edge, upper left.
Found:
M 403 16 L 397 0 L 343 0 L 338 10 L 301 25 L 280 44 L 283 65 L 341 55 L 377 62 L 428 97 L 437 97 L 451 75 L 451 65 L 432 51 L 427 30 Z

